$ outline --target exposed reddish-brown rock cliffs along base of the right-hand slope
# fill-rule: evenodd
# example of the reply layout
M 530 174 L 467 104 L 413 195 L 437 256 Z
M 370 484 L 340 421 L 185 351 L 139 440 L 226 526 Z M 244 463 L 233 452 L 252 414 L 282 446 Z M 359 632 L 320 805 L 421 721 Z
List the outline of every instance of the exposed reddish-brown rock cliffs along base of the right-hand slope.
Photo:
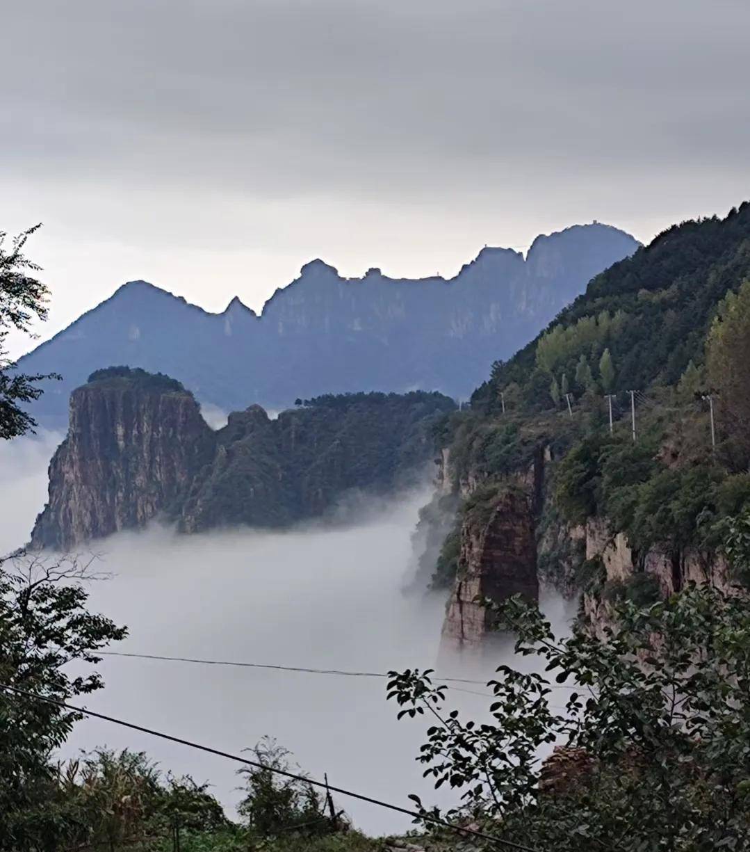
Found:
M 622 597 L 649 602 L 688 583 L 730 588 L 727 564 L 715 552 L 652 545 L 635 553 L 627 535 L 605 518 L 565 521 L 554 487 L 564 448 L 558 447 L 556 460 L 544 430 L 507 433 L 501 423 L 494 429 L 480 428 L 468 441 L 459 435 L 436 458 L 436 498 L 421 521 L 421 536 L 428 540 L 430 529 L 446 528 L 437 509 L 451 496 L 456 501 L 452 510 L 461 504 L 460 526 L 452 528 L 437 560 L 432 556 L 420 573 L 429 577 L 437 566 L 433 585 L 449 588 L 443 629 L 447 647 L 479 648 L 493 631 L 491 613 L 477 598 L 502 602 L 520 594 L 534 601 L 540 583 L 566 598 L 580 598 L 581 619 L 598 636 L 613 626 L 613 606 Z M 496 435 L 503 446 L 513 447 L 510 462 L 499 454 L 492 457 L 495 465 L 495 459 L 506 459 L 502 475 L 492 475 L 487 467 Z

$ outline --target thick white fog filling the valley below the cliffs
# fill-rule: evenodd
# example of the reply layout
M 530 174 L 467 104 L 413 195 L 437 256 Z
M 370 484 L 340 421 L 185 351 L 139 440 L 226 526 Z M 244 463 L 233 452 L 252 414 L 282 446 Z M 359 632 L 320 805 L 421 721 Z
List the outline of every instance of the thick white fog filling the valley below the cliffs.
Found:
M 56 436 L 0 447 L 3 515 L 0 546 L 22 544 L 43 504 L 47 457 Z M 151 527 L 95 544 L 96 569 L 110 579 L 90 584 L 90 608 L 129 626 L 118 650 L 268 665 L 388 671 L 436 664 L 444 600 L 404 595 L 413 570 L 411 533 L 427 490 L 371 504 L 357 523 L 298 527 L 285 533 L 241 531 L 180 536 Z M 444 674 L 490 676 L 499 659 L 458 661 Z M 239 754 L 264 735 L 294 753 L 312 777 L 409 806 L 451 802 L 421 778 L 415 762 L 426 723 L 396 720 L 382 678 L 197 665 L 106 657 L 106 688 L 86 706 L 146 727 Z M 478 716 L 489 701 L 454 692 L 451 705 Z M 61 752 L 96 746 L 147 751 L 164 770 L 209 780 L 226 808 L 238 803 L 237 766 L 186 746 L 117 728 L 79 722 Z M 340 797 L 355 825 L 369 833 L 403 831 L 407 817 Z

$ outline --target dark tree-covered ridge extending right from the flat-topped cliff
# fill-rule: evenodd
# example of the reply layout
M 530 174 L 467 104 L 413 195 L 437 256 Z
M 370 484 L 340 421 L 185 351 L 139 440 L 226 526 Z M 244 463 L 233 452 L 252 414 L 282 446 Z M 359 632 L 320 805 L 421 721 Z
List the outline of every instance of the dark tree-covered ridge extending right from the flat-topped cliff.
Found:
M 434 458 L 431 433 L 452 416 L 443 394 L 329 395 L 275 420 L 250 406 L 215 433 L 218 452 L 175 512 L 192 530 L 282 527 L 334 511 L 346 492 L 413 486 Z

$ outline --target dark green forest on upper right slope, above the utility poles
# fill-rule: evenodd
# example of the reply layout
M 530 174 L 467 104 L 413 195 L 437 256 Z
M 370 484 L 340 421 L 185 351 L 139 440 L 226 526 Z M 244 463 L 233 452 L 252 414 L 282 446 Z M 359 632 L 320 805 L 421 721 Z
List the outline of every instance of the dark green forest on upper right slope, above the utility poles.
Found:
M 498 391 L 510 383 L 537 408 L 548 407 L 549 378 L 542 394 L 534 395 L 535 371 L 572 375 L 581 354 L 594 364 L 604 348 L 617 366 L 613 391 L 676 385 L 690 360 L 697 369 L 703 364 L 721 299 L 750 277 L 748 233 L 747 202 L 723 220 L 714 216 L 670 227 L 592 279 L 547 331 L 495 369 L 473 394 L 472 407 L 495 412 Z

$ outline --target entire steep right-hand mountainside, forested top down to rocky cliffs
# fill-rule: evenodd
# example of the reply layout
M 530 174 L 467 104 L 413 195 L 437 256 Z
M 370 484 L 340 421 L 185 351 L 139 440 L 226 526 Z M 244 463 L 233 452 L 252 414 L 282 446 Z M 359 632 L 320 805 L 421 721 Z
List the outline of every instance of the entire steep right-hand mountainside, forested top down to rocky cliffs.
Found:
M 672 227 L 598 275 L 546 331 L 496 364 L 472 411 L 446 417 L 437 431 L 440 488 L 423 514 L 435 526 L 435 507 L 451 494 L 461 502 L 433 577 L 451 595 L 444 636 L 472 644 L 492 629 L 483 613 L 466 629 L 455 602 L 466 600 L 467 584 L 483 596 L 493 590 L 497 601 L 519 590 L 508 563 L 518 564 L 523 511 L 508 511 L 505 527 L 511 519 L 515 533 L 502 530 L 507 547 L 493 544 L 479 559 L 472 551 L 486 526 L 483 507 L 508 488 L 530 506 L 539 579 L 580 597 L 594 630 L 621 597 L 656 601 L 689 582 L 733 581 L 720 545 L 725 519 L 750 507 L 750 427 L 732 415 L 721 374 L 710 376 L 704 363 L 714 318 L 725 323 L 736 304 L 723 301 L 728 292 L 740 293 L 746 312 L 733 315 L 750 315 L 748 279 L 750 204 L 724 220 Z M 750 337 L 750 322 L 742 333 Z

